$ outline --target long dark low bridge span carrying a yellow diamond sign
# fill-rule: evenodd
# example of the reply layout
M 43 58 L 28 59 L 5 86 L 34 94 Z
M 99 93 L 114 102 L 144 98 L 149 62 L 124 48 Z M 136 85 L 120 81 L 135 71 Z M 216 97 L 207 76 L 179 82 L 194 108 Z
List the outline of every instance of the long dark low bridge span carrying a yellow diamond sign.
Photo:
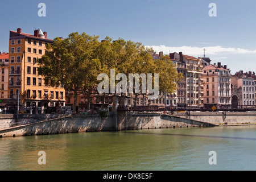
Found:
M 131 106 L 131 107 L 118 107 L 118 111 L 233 111 L 245 112 L 256 111 L 256 105 L 238 105 L 238 106 L 225 106 L 215 105 L 212 107 L 203 106 Z

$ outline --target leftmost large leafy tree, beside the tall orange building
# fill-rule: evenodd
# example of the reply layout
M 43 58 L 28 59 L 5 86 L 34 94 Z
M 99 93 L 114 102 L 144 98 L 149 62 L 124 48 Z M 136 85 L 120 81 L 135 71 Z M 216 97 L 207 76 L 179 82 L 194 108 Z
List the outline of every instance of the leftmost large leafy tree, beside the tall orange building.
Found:
M 95 49 L 100 44 L 98 38 L 85 32 L 73 32 L 65 39 L 55 38 L 53 44 L 47 46 L 45 55 L 38 60 L 38 72 L 44 76 L 46 84 L 63 84 L 66 92 L 73 94 L 74 111 L 77 96 L 85 90 L 90 92 L 97 84 L 97 71 L 101 67 L 95 56 Z

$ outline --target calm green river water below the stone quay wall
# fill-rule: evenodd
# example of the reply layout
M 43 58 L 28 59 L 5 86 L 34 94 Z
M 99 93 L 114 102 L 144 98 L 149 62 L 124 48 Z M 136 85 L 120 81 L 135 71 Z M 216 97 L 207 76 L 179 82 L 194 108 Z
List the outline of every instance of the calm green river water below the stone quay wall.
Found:
M 1 138 L 0 170 L 255 170 L 255 144 L 256 126 Z

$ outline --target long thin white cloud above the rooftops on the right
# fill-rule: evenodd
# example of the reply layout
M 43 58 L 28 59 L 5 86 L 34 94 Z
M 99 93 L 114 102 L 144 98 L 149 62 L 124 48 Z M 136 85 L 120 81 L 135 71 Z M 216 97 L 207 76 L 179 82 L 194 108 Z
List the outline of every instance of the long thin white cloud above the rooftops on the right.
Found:
M 169 54 L 171 52 L 183 52 L 184 55 L 191 56 L 203 56 L 205 48 L 205 55 L 218 55 L 218 54 L 228 54 L 228 53 L 256 53 L 256 50 L 248 50 L 243 48 L 234 48 L 234 47 L 222 47 L 222 46 L 209 46 L 209 47 L 191 47 L 191 46 L 181 46 L 181 47 L 168 47 L 168 46 L 146 46 L 152 47 L 154 51 L 160 52 L 163 51 L 164 54 Z M 224 58 L 222 58 L 224 59 Z

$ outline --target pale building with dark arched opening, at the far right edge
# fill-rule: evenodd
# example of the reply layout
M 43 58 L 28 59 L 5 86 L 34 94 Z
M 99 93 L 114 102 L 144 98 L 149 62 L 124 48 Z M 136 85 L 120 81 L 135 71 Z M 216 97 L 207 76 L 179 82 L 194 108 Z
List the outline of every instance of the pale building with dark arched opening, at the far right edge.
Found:
M 232 106 L 255 105 L 255 72 L 239 71 L 232 75 Z

